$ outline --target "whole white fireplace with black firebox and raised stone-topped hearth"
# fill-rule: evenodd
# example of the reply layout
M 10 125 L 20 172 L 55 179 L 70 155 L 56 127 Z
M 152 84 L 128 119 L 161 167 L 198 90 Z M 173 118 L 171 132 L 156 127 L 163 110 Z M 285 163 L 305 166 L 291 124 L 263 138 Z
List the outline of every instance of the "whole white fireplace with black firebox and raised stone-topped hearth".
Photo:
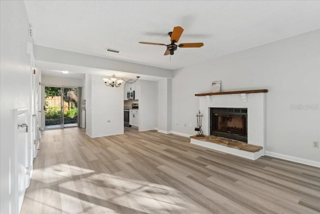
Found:
M 250 145 L 256 145 L 263 147 L 258 152 L 246 152 L 236 148 L 230 148 L 223 146 L 221 144 L 209 143 L 205 141 L 200 141 L 197 139 L 191 138 L 191 142 L 197 145 L 201 145 L 207 148 L 216 149 L 229 154 L 238 155 L 241 157 L 249 158 L 255 160 L 260 156 L 265 154 L 265 101 L 267 91 L 259 92 L 250 92 L 245 91 L 244 94 L 238 94 L 236 92 L 221 92 L 221 93 L 205 93 L 203 96 L 199 96 L 199 110 L 203 113 L 202 117 L 202 130 L 204 135 L 223 135 L 226 138 L 236 138 L 242 142 L 247 142 Z M 229 109 L 230 108 L 230 109 Z M 216 112 L 214 112 L 216 111 Z M 215 115 L 216 114 L 216 115 Z M 238 118 L 241 118 L 242 123 L 241 127 L 233 126 L 235 128 L 244 127 L 244 136 L 241 136 L 240 131 L 234 132 L 234 129 L 227 131 L 219 130 L 216 122 L 212 122 L 212 117 L 220 115 L 222 116 L 234 116 L 237 115 Z M 221 119 L 220 119 L 221 120 Z M 224 118 L 224 123 L 226 118 Z M 217 120 L 218 121 L 218 120 Z M 243 122 L 244 121 L 244 122 Z M 213 124 L 212 124 L 213 123 Z M 213 128 L 213 125 L 215 127 Z M 223 123 L 222 123 L 223 125 Z M 226 125 L 228 126 L 228 125 Z M 213 129 L 213 130 L 212 130 Z M 214 130 L 217 129 L 217 130 Z M 237 129 L 238 130 L 238 129 Z M 226 132 L 225 132 L 226 131 Z M 212 133 L 213 132 L 213 133 Z M 243 133 L 243 132 L 242 132 Z M 228 140 L 232 143 L 232 140 Z

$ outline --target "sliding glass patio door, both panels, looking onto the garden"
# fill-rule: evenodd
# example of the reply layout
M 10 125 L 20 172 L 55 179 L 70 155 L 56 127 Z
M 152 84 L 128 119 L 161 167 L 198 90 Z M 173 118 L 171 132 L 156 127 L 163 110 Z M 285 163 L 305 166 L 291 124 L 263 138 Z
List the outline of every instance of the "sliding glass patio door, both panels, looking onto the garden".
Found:
M 78 126 L 78 89 L 44 87 L 45 129 Z

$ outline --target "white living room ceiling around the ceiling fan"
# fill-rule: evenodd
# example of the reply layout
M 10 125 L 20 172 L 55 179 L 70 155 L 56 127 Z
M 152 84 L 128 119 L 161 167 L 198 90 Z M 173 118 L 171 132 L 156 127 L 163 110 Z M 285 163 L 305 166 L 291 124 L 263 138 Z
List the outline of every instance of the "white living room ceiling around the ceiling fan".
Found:
M 319 1 L 25 1 L 34 44 L 177 69 L 320 28 Z M 179 43 L 163 56 L 173 27 Z M 119 54 L 106 48 L 120 50 Z

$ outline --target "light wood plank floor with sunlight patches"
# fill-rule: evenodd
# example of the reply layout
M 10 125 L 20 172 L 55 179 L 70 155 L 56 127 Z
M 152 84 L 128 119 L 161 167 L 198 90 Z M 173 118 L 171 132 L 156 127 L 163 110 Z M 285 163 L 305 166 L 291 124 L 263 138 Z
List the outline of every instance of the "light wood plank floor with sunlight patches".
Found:
M 319 213 L 320 169 L 156 131 L 47 130 L 21 213 Z

